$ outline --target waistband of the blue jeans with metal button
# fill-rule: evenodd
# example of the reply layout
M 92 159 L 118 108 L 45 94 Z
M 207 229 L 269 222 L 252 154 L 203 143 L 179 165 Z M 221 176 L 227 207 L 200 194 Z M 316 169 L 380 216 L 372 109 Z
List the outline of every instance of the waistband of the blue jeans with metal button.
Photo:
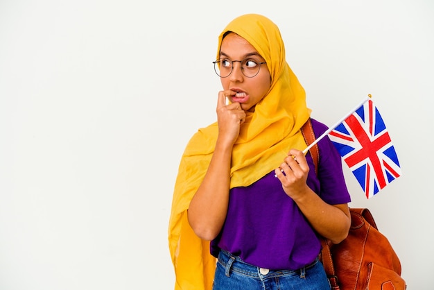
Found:
M 226 268 L 226 275 L 228 277 L 229 271 L 236 271 L 238 273 L 242 273 L 243 275 L 259 278 L 274 278 L 284 275 L 300 275 L 301 278 L 304 278 L 306 270 L 318 263 L 318 257 L 312 263 L 307 264 L 306 266 L 297 270 L 270 270 L 267 268 L 260 268 L 258 266 L 244 262 L 240 257 L 234 256 L 226 250 L 220 250 L 218 262 Z

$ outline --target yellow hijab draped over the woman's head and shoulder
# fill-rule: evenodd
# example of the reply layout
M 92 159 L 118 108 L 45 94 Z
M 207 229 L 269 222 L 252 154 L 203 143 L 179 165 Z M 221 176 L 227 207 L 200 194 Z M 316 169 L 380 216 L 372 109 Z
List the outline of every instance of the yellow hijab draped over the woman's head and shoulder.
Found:
M 266 60 L 271 74 L 268 94 L 248 112 L 232 152 L 230 187 L 248 186 L 279 167 L 290 148 L 303 150 L 300 128 L 309 118 L 306 94 L 286 62 L 279 28 L 267 17 L 248 14 L 230 22 L 218 37 L 232 31 L 245 38 Z M 194 234 L 186 218 L 191 198 L 208 169 L 218 135 L 217 123 L 193 135 L 182 155 L 175 181 L 168 228 L 169 250 L 175 268 L 175 289 L 211 289 L 216 259 L 209 241 Z

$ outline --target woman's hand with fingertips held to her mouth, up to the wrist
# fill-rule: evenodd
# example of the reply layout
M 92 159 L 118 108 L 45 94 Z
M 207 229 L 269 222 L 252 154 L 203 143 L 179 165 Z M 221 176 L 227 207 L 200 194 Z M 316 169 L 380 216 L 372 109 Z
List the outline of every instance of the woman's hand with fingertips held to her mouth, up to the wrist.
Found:
M 226 98 L 235 94 L 230 90 L 218 92 L 217 123 L 218 138 L 222 142 L 233 145 L 240 134 L 240 126 L 245 121 L 245 112 L 240 103 L 226 105 Z

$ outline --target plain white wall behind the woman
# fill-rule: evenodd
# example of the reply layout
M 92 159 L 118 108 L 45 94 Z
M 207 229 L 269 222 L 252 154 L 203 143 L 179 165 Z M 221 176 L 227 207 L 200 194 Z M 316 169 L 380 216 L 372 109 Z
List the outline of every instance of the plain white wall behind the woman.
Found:
M 403 176 L 366 200 L 347 170 L 351 206 L 408 289 L 433 289 L 431 0 L 1 0 L 0 289 L 173 289 L 177 166 L 215 120 L 217 35 L 246 12 L 280 26 L 313 117 L 372 94 Z

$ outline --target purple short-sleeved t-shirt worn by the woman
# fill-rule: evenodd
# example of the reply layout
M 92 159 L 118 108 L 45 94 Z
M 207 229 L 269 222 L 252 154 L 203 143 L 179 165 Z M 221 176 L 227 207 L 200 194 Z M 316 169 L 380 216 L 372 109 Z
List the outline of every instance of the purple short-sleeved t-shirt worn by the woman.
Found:
M 327 130 L 314 119 L 312 126 L 316 137 Z M 338 151 L 329 137 L 318 142 L 318 148 L 318 177 L 311 155 L 306 155 L 310 168 L 307 185 L 326 203 L 349 203 Z M 218 257 L 220 248 L 261 268 L 295 270 L 313 262 L 321 244 L 272 171 L 248 187 L 230 190 L 226 221 L 218 237 L 211 241 L 211 254 Z

